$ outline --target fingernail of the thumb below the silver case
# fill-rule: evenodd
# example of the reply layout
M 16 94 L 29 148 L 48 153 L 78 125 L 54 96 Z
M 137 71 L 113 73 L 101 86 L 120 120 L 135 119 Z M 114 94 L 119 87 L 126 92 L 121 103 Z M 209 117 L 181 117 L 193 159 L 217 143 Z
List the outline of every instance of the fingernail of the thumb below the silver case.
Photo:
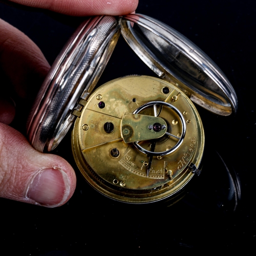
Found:
M 65 172 L 47 168 L 40 170 L 27 189 L 27 198 L 36 204 L 56 207 L 65 202 L 70 193 L 70 181 Z

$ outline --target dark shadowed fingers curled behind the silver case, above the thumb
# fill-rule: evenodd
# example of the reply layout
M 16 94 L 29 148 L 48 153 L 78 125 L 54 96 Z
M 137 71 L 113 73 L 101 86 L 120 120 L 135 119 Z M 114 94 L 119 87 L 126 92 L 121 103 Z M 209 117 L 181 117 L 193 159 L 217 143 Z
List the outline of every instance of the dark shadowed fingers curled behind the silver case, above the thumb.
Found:
M 17 111 L 26 120 L 38 88 L 50 69 L 39 48 L 24 33 L 0 19 L 0 122 L 10 124 Z M 14 90 L 13 90 L 14 89 Z

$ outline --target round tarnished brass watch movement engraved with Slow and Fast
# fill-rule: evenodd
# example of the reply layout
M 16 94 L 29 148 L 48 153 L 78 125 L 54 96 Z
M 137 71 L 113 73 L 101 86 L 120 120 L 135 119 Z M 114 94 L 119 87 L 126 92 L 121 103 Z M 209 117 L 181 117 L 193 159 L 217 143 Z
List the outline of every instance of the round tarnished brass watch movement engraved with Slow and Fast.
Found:
M 165 152 L 177 144 L 182 123 L 172 109 L 150 106 L 138 115 L 146 122 L 133 120 L 132 113 L 151 101 L 172 104 L 185 119 L 184 140 L 170 154 L 150 157 L 133 143 L 125 143 L 130 142 L 123 136 L 126 118 L 133 131 L 143 126 L 141 139 L 135 134 L 131 141 L 141 141 L 139 145 L 145 150 L 152 151 L 155 145 L 155 152 Z M 148 129 L 151 122 L 147 123 L 147 116 L 152 116 L 152 124 L 166 125 L 159 137 L 155 137 L 158 132 Z M 204 132 L 194 104 L 174 84 L 154 77 L 128 76 L 105 83 L 92 93 L 75 122 L 72 144 L 81 173 L 100 193 L 118 201 L 148 203 L 176 197 L 194 176 L 188 166 L 193 163 L 198 167 L 201 162 Z

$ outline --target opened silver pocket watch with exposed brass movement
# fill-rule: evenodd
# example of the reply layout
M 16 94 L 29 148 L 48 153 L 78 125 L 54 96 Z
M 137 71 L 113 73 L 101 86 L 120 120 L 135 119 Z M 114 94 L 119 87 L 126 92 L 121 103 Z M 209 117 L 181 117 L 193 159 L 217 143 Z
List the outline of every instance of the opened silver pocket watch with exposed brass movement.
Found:
M 120 32 L 159 78 L 131 75 L 94 90 Z M 174 29 L 140 14 L 92 17 L 42 84 L 28 137 L 36 150 L 52 151 L 74 123 L 75 161 L 101 194 L 127 203 L 176 201 L 200 174 L 204 150 L 192 101 L 218 115 L 237 110 L 225 75 Z

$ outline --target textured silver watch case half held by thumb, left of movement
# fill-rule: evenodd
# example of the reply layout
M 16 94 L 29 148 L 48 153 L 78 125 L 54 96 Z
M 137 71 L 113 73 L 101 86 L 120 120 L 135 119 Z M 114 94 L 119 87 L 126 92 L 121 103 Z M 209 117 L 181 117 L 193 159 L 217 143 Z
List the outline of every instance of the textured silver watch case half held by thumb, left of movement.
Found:
M 53 150 L 66 135 L 75 119 L 69 113 L 79 97 L 86 99 L 94 89 L 119 33 L 114 16 L 92 17 L 78 27 L 62 49 L 28 120 L 28 139 L 37 151 Z

